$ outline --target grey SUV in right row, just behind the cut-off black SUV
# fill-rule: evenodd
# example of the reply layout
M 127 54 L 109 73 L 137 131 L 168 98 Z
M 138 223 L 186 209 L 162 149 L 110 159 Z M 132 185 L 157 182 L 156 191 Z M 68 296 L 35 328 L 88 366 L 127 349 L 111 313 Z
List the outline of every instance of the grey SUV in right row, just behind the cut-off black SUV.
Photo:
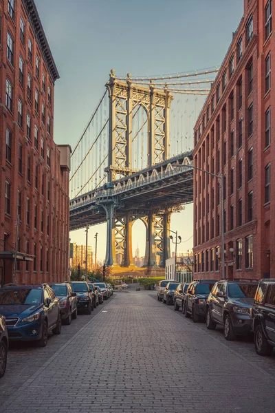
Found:
M 217 282 L 207 299 L 207 328 L 212 330 L 221 324 L 227 340 L 236 339 L 236 335 L 248 335 L 252 327 L 250 314 L 257 286 L 257 282 Z

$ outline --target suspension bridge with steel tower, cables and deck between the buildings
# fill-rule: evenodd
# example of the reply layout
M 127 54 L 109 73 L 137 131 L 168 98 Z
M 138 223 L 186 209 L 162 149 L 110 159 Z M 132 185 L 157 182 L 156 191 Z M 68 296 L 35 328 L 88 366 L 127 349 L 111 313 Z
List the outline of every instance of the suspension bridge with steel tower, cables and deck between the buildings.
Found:
M 107 222 L 106 266 L 118 269 L 119 254 L 120 266 L 133 268 L 140 219 L 144 266 L 165 267 L 170 215 L 193 198 L 192 127 L 218 70 L 144 77 L 111 70 L 72 152 L 69 206 L 70 231 Z

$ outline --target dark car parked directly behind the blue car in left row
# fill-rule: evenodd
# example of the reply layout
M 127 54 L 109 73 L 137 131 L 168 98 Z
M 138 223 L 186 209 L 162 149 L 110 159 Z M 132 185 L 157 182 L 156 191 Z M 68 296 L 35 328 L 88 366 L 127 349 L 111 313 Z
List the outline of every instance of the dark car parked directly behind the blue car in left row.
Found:
M 77 299 L 72 286 L 68 282 L 49 284 L 59 298 L 61 306 L 62 321 L 71 324 L 72 319 L 77 317 Z

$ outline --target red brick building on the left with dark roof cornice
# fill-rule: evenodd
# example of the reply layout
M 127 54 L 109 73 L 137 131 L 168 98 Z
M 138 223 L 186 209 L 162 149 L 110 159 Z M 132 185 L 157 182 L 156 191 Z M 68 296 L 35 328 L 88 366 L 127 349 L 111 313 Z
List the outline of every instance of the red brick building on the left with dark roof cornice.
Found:
M 58 77 L 34 0 L 1 1 L 1 284 L 12 282 L 15 257 L 18 283 L 67 278 L 70 147 L 53 140 Z

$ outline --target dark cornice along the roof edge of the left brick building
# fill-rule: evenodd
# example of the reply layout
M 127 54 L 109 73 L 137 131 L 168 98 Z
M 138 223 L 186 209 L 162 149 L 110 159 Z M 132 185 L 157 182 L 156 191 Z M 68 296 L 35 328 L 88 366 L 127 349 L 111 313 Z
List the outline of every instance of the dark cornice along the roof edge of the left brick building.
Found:
M 39 17 L 39 12 L 36 9 L 34 0 L 22 0 L 22 3 L 26 13 L 28 14 L 28 19 L 30 21 L 30 24 L 32 25 L 34 36 L 36 38 L 37 43 L 39 43 L 39 47 L 43 54 L 43 58 L 47 65 L 47 69 L 49 70 L 52 82 L 54 83 L 60 76 L 56 64 L 54 63 L 54 57 L 52 56 L 49 43 L 47 43 L 47 38 L 43 30 L 43 26 Z

